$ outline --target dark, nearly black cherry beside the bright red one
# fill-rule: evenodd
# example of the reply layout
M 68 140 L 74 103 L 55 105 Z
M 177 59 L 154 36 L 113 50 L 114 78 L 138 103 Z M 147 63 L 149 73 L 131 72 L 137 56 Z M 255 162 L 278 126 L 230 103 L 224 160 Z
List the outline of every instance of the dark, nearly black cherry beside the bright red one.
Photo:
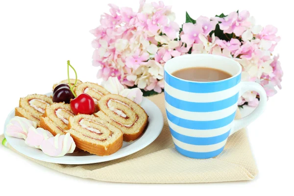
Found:
M 73 99 L 73 93 L 67 84 L 59 84 L 53 90 L 53 102 L 65 102 L 70 103 Z

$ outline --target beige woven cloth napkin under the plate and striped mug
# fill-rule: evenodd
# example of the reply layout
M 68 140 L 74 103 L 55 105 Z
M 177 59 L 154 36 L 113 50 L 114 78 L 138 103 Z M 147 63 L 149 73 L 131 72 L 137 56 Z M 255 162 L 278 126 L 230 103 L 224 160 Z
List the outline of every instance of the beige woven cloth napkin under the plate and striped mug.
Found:
M 26 158 L 58 172 L 110 182 L 224 182 L 251 180 L 256 176 L 257 168 L 245 129 L 229 137 L 225 149 L 219 156 L 211 159 L 188 158 L 179 154 L 172 143 L 164 108 L 164 95 L 152 96 L 149 99 L 164 114 L 164 127 L 152 144 L 132 155 L 89 165 L 61 165 Z M 3 138 L 1 135 L 0 141 Z M 7 147 L 14 150 L 9 144 Z

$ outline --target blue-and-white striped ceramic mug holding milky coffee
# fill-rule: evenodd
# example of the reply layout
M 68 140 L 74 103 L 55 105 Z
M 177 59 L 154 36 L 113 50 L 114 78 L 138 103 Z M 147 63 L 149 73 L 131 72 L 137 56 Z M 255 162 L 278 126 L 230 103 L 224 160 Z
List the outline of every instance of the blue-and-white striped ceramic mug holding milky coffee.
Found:
M 230 78 L 195 82 L 177 78 L 173 72 L 206 67 L 225 71 Z M 241 82 L 241 65 L 233 59 L 212 54 L 188 54 L 172 58 L 164 66 L 165 104 L 172 140 L 183 155 L 206 159 L 219 155 L 227 138 L 253 122 L 266 107 L 267 95 L 255 82 Z M 234 120 L 238 98 L 246 91 L 260 96 L 258 107 L 248 116 Z

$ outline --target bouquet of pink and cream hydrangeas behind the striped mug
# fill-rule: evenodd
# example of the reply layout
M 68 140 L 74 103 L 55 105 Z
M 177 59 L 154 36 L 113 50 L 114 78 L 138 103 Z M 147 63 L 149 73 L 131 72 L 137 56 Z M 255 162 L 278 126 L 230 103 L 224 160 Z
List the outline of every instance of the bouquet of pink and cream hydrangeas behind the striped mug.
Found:
M 91 30 L 96 37 L 92 46 L 93 66 L 100 67 L 97 77 L 104 81 L 117 77 L 128 88 L 140 88 L 144 96 L 164 89 L 164 64 L 172 57 L 209 53 L 226 56 L 243 67 L 242 81 L 261 84 L 267 96 L 281 89 L 283 71 L 273 56 L 280 37 L 272 25 L 255 24 L 248 11 L 234 11 L 212 18 L 192 19 L 186 12 L 186 23 L 174 22 L 172 6 L 162 1 L 140 0 L 138 11 L 109 4 L 100 26 Z M 256 106 L 259 95 L 246 92 L 238 105 Z

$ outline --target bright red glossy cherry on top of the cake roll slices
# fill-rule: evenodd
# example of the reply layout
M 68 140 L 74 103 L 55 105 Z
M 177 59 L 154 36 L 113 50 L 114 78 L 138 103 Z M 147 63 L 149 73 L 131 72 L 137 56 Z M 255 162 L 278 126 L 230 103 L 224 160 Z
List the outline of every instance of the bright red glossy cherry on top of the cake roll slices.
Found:
M 86 93 L 82 93 L 76 98 L 71 100 L 71 109 L 73 114 L 94 114 L 95 101 L 91 96 Z

